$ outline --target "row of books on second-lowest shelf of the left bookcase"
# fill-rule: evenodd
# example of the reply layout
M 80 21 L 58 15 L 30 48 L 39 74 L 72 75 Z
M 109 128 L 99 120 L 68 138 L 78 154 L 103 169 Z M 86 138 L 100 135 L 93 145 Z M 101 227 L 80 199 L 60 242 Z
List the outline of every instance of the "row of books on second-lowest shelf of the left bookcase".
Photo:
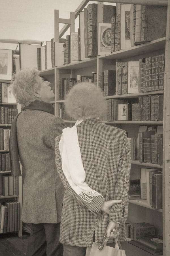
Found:
M 2 175 L 2 195 L 18 195 L 18 176 Z

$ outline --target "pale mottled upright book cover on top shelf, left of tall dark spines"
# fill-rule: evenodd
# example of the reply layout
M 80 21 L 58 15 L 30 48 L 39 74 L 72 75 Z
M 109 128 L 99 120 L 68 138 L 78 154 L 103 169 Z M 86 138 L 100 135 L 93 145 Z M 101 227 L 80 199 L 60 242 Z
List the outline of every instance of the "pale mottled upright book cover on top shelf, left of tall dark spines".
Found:
M 78 33 L 70 32 L 70 63 L 78 61 Z

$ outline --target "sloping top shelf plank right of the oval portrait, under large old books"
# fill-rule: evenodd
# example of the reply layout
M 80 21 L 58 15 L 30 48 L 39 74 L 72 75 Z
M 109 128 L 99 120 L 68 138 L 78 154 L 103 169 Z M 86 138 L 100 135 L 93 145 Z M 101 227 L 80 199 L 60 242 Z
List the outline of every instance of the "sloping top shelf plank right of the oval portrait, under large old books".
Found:
M 138 46 L 133 46 L 132 48 L 126 50 L 115 51 L 109 55 L 99 56 L 100 59 L 124 59 L 136 55 L 145 54 L 152 51 L 158 51 L 160 49 L 165 49 L 165 37 L 159 38 L 152 42 L 141 44 Z

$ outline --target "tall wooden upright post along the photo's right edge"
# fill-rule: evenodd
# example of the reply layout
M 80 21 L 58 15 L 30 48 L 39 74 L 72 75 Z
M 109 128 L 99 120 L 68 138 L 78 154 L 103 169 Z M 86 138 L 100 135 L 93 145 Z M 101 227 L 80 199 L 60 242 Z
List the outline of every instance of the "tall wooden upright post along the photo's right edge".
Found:
M 163 99 L 163 255 L 170 255 L 170 0 L 167 9 Z

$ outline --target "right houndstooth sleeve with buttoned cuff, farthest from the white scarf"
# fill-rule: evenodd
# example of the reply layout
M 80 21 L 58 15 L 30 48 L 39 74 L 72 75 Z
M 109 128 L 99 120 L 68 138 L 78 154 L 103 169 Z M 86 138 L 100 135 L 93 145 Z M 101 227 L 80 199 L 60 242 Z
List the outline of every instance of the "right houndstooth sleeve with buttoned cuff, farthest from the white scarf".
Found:
M 117 179 L 114 190 L 114 199 L 122 199 L 122 203 L 114 204 L 112 206 L 109 213 L 109 221 L 122 223 L 125 222 L 127 219 L 130 168 L 130 147 L 127 141 L 126 132 L 124 131 L 121 156 L 118 165 Z

